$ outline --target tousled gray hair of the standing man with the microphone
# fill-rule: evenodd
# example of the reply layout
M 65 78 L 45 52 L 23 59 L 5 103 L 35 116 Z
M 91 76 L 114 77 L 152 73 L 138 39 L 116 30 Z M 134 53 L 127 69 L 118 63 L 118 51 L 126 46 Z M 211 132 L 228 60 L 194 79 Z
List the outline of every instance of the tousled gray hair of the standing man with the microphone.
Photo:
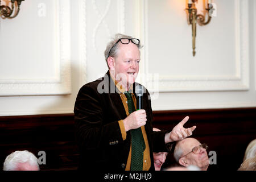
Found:
M 106 50 L 104 51 L 104 56 L 105 56 L 106 62 L 108 61 L 109 56 L 112 56 L 112 57 L 117 56 L 118 44 L 115 44 L 115 43 L 118 41 L 118 39 L 122 39 L 122 38 L 133 39 L 133 37 L 129 36 L 129 35 L 115 34 L 114 38 L 108 43 L 108 45 L 106 46 Z M 114 46 L 114 44 L 115 44 L 115 46 Z M 139 49 L 142 48 L 141 43 L 139 43 L 139 45 L 137 45 L 137 46 Z M 111 52 L 109 52 L 111 48 L 112 48 L 112 50 L 111 50 Z M 107 65 L 108 65 L 108 62 L 107 62 Z M 108 65 L 108 67 L 109 67 L 109 65 Z

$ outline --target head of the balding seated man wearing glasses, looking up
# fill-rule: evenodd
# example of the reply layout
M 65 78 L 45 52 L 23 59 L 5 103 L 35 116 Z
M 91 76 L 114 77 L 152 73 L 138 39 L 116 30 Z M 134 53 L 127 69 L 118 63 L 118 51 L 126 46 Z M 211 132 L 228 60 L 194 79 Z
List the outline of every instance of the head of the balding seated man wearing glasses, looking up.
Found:
M 176 143 L 174 158 L 181 166 L 194 165 L 201 171 L 207 171 L 209 166 L 207 148 L 207 144 L 201 144 L 195 138 L 185 138 Z

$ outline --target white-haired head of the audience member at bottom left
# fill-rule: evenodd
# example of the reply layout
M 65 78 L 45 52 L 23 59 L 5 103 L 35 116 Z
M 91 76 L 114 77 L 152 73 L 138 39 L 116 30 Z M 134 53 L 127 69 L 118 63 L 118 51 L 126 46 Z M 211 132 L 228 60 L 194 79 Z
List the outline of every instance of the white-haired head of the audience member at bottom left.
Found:
M 39 171 L 38 159 L 27 150 L 12 152 L 3 163 L 3 171 Z

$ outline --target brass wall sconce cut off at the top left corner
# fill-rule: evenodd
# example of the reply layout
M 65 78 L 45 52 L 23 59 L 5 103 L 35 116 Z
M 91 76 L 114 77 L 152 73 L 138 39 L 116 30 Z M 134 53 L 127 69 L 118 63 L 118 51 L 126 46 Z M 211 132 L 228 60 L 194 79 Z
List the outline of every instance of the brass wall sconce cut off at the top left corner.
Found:
M 15 9 L 15 1 L 17 2 L 18 8 Z M 19 14 L 19 6 L 21 4 L 21 2 L 24 0 L 11 0 L 11 8 L 9 6 L 5 6 L 5 5 L 1 5 L 1 0 L 0 0 L 0 16 L 1 18 L 5 19 L 5 18 L 15 18 L 18 14 Z M 14 15 L 11 16 L 13 14 L 13 11 L 15 11 Z

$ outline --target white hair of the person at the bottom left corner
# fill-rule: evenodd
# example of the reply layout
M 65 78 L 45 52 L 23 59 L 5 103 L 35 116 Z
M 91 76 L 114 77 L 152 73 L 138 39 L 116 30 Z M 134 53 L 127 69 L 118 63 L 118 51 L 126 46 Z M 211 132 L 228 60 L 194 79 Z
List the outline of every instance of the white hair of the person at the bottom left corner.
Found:
M 12 152 L 6 157 L 5 162 L 3 163 L 3 171 L 15 171 L 15 168 L 19 163 L 27 162 L 31 166 L 37 166 L 39 169 L 38 159 L 31 152 L 27 150 Z

